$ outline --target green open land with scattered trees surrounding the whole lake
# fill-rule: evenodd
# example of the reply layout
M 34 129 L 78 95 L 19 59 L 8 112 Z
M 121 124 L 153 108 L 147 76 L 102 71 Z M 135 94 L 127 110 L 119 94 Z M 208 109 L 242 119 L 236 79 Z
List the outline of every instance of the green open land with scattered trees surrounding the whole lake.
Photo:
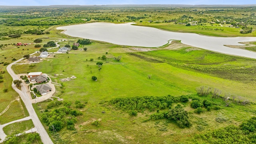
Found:
M 62 39 L 58 43 L 60 47 L 77 42 L 79 38 L 64 35 L 61 30 L 55 29 L 67 24 L 136 22 L 141 26 L 209 36 L 255 36 L 254 7 L 67 7 L 65 11 L 58 7 L 36 7 L 33 10 L 20 8 L 15 12 L 12 9 L 1 10 L 3 29 L 0 31 L 0 44 L 3 46 L 0 62 L 8 63 L 14 61 L 13 58 L 18 60 L 25 54 L 38 51 L 50 40 L 57 42 Z M 52 14 L 50 10 L 56 13 Z M 7 15 L 10 13 L 14 15 Z M 17 17 L 21 19 L 18 21 Z M 202 25 L 185 26 L 190 21 L 198 21 Z M 218 21 L 224 28 L 216 24 Z M 240 28 L 229 27 L 230 24 L 223 21 L 230 21 L 230 24 L 237 24 Z M 241 21 L 246 23 L 244 30 L 252 27 L 251 33 L 240 33 Z M 21 24 L 27 25 L 23 27 Z M 33 29 L 50 34 L 27 32 Z M 19 38 L 8 37 L 16 32 L 20 32 Z M 36 38 L 42 39 L 38 43 L 40 48 L 34 48 Z M 14 46 L 18 42 L 30 45 Z M 230 47 L 255 51 L 255 42 L 246 44 Z M 48 52 L 57 50 L 53 48 Z M 101 58 L 103 55 L 106 60 Z M 118 56 L 121 56 L 119 61 L 115 59 Z M 29 67 L 31 64 L 15 64 L 12 69 L 16 74 L 43 72 L 52 75 L 52 82 L 60 84 L 55 86 L 54 96 L 64 101 L 54 98 L 54 101 L 33 104 L 54 144 L 255 142 L 254 131 L 246 129 L 246 124 L 255 126 L 255 59 L 203 50 L 179 41 L 160 48 L 143 48 L 92 40 L 92 44 L 80 45 L 78 50 L 52 53 L 42 61 L 33 67 Z M 102 62 L 102 66 L 99 67 L 96 62 Z M 4 80 L 0 82 L 0 112 L 10 106 L 0 115 L 0 124 L 27 117 L 23 102 L 18 101 L 18 94 L 11 87 L 12 78 L 4 72 L 4 63 L 0 65 L 0 71 Z M 76 78 L 60 81 L 71 76 Z M 96 76 L 97 81 L 93 81 L 92 76 Z M 212 88 L 212 92 L 202 96 L 198 92 L 202 86 L 204 90 Z M 4 89 L 8 91 L 4 92 Z M 161 101 L 166 98 L 164 96 L 172 102 L 167 104 L 167 101 Z M 181 96 L 187 100 L 183 101 Z M 193 108 L 191 104 L 195 101 L 204 102 L 204 106 Z M 191 125 L 181 128 L 177 120 L 170 118 L 172 110 L 185 110 Z M 54 123 L 56 129 L 57 124 L 61 128 L 53 132 L 50 123 Z M 4 132 L 12 135 L 15 130 L 24 131 L 33 126 L 30 120 L 20 122 L 20 125 L 8 125 L 4 127 Z M 19 136 L 19 143 L 28 140 L 28 137 L 28 134 Z M 42 142 L 37 139 L 34 143 Z

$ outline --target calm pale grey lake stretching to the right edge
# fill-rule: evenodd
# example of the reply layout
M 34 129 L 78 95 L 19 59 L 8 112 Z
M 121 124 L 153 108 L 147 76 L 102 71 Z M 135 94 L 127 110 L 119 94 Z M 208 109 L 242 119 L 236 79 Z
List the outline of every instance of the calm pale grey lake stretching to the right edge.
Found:
M 168 32 L 157 28 L 133 26 L 132 23 L 112 24 L 97 22 L 62 26 L 57 29 L 66 30 L 64 34 L 100 40 L 113 44 L 142 47 L 159 47 L 168 43 L 168 40 L 181 40 L 183 44 L 204 48 L 225 54 L 256 58 L 255 52 L 237 48 L 229 48 L 224 45 L 242 45 L 238 42 L 256 41 L 256 37 L 211 37 L 199 34 Z

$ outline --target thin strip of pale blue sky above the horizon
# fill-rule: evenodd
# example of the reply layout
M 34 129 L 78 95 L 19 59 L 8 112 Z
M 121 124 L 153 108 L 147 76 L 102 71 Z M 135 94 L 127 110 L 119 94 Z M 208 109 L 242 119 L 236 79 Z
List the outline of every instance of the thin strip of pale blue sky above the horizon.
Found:
M 256 4 L 256 0 L 0 0 L 0 6 L 104 4 Z

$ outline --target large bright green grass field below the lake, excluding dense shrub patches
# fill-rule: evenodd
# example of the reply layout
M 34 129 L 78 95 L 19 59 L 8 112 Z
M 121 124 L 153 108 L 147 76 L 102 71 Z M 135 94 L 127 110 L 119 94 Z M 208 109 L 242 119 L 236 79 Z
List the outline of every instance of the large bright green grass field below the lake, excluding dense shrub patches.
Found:
M 68 44 L 68 42 L 64 41 L 61 44 Z M 64 128 L 59 132 L 62 139 L 75 140 L 76 142 L 84 142 L 84 139 L 86 139 L 88 143 L 157 143 L 159 139 L 164 139 L 166 142 L 179 140 L 191 142 L 188 135 L 193 136 L 194 133 L 206 132 L 206 130 L 221 128 L 229 124 L 238 125 L 253 115 L 254 105 L 234 105 L 234 107 L 225 108 L 223 102 L 216 102 L 223 107 L 222 110 L 198 115 L 194 114 L 194 110 L 187 103 L 184 104 L 184 107 L 190 112 L 193 126 L 192 128 L 181 129 L 174 122 L 165 120 L 142 122 L 152 114 L 147 110 L 144 113 L 139 113 L 137 117 L 131 117 L 126 112 L 98 103 L 102 100 L 119 97 L 195 94 L 196 88 L 199 86 L 211 86 L 222 90 L 226 94 L 236 97 L 242 96 L 255 102 L 255 84 L 253 82 L 247 84 L 245 82 L 247 79 L 232 80 L 229 77 L 221 77 L 222 74 L 188 67 L 190 65 L 199 68 L 206 66 L 207 69 L 207 66 L 208 68 L 215 68 L 227 65 L 223 71 L 228 72 L 230 68 L 235 66 L 253 67 L 254 60 L 185 47 L 178 50 L 141 52 L 136 53 L 136 55 L 124 53 L 128 51 L 128 48 L 121 48 L 104 42 L 94 42 L 84 47 L 88 48 L 86 52 L 72 50 L 69 54 L 58 54 L 54 58 L 49 58 L 51 60 L 44 60 L 44 62 L 36 64 L 33 68 L 35 72 L 63 74 L 59 75 L 58 78 L 52 78 L 54 82 L 63 83 L 64 85 L 63 88 L 56 86 L 55 96 L 60 96 L 60 98 L 72 102 L 75 100 L 88 102 L 86 108 L 81 110 L 83 116 L 78 118 L 77 133 L 72 133 L 72 131 L 67 133 Z M 105 54 L 105 52 L 108 52 L 108 54 Z M 108 63 L 97 59 L 102 55 L 107 56 L 106 61 Z M 114 61 L 113 57 L 119 55 L 122 56 L 121 61 Z M 94 61 L 91 62 L 90 58 L 94 58 Z M 96 65 L 98 61 L 104 62 L 100 71 Z M 19 70 L 20 73 L 32 72 L 26 65 L 16 66 L 14 70 L 16 72 Z M 92 74 L 90 70 L 92 70 Z M 148 79 L 148 74 L 152 74 L 151 79 Z M 60 82 L 59 80 L 72 75 L 77 78 L 68 82 Z M 96 82 L 91 80 L 93 75 L 98 78 Z M 47 104 L 34 105 L 39 116 L 40 111 L 44 110 Z M 106 114 L 102 114 L 102 111 L 105 111 Z M 245 114 L 248 115 L 248 118 L 244 117 Z M 229 121 L 224 123 L 215 122 L 214 119 L 220 115 L 224 115 Z M 196 123 L 200 118 L 203 118 L 207 123 L 202 131 L 197 129 L 200 124 Z M 93 120 L 100 120 L 101 126 L 92 126 Z M 161 128 L 166 130 L 160 131 Z

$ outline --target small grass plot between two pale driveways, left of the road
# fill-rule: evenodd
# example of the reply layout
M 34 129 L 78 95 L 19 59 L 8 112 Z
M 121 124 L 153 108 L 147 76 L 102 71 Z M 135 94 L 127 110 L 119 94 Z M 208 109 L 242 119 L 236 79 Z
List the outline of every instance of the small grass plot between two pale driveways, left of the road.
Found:
M 31 128 L 34 128 L 34 124 L 32 120 L 26 120 L 22 122 L 15 122 L 13 124 L 9 124 L 3 128 L 4 133 L 6 135 L 12 134 L 15 130 L 18 130 L 20 132 L 24 132 L 26 130 L 30 130 Z

